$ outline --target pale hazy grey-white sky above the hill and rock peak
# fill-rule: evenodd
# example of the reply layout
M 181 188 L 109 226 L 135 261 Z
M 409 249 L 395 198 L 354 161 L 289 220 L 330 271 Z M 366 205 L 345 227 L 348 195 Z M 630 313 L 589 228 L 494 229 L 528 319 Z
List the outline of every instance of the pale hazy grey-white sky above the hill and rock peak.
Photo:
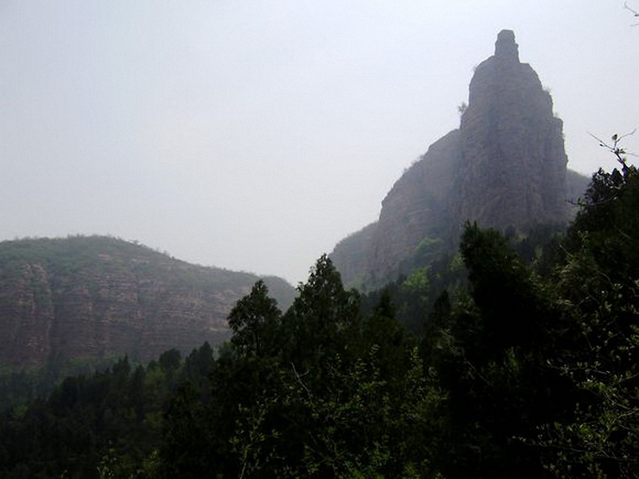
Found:
M 111 234 L 295 284 L 459 125 L 501 29 L 569 167 L 614 167 L 588 132 L 639 126 L 636 22 L 622 0 L 0 0 L 0 239 Z

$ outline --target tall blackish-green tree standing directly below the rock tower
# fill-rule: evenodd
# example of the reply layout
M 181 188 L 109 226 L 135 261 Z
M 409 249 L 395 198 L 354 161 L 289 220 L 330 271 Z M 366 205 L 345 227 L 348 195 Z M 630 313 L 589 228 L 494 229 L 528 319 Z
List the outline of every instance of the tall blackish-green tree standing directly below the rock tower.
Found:
M 447 397 L 435 466 L 447 478 L 539 477 L 539 452 L 516 437 L 573 404 L 569 381 L 546 367 L 560 310 L 500 232 L 467 224 L 460 251 L 468 292 L 440 296 L 424 340 Z

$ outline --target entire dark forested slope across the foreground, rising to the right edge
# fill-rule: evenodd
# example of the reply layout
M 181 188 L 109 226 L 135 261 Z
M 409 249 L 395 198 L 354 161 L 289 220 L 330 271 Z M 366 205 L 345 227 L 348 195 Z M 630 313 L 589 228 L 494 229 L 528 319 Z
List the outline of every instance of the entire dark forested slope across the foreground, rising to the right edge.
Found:
M 466 224 L 447 264 L 374 298 L 323 256 L 286 312 L 256 283 L 217 354 L 68 379 L 3 414 L 0 477 L 638 477 L 639 172 L 619 158 L 566 232 Z

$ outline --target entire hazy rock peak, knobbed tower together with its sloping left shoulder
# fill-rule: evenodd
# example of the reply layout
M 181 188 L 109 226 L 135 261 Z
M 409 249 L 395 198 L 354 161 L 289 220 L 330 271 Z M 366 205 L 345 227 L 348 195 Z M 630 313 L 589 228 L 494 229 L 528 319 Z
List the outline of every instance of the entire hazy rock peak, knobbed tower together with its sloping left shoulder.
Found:
M 495 55 L 475 69 L 459 129 L 397 180 L 366 234 L 335 247 L 344 282 L 366 289 L 394 280 L 424 244 L 454 247 L 466 220 L 498 229 L 566 222 L 567 199 L 582 183 L 570 176 L 569 192 L 552 109 L 537 73 L 520 63 L 514 34 L 501 31 Z

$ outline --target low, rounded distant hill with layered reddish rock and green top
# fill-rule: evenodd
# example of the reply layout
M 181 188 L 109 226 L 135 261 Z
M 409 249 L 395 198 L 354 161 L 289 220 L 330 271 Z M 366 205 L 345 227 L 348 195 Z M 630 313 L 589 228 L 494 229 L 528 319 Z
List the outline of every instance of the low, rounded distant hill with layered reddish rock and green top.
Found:
M 226 317 L 259 278 L 104 236 L 0 243 L 1 366 L 128 354 L 146 361 L 229 337 Z M 263 278 L 280 308 L 295 289 Z

